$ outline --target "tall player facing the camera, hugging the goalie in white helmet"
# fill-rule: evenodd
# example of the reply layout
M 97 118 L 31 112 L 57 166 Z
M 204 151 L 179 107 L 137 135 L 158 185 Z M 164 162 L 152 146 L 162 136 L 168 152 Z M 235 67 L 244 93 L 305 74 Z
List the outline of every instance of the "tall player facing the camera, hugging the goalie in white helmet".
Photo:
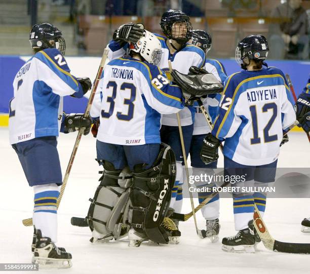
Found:
M 165 71 L 168 79 L 170 79 L 169 60 L 171 61 L 173 69 L 184 74 L 189 72 L 191 66 L 202 68 L 205 63 L 204 51 L 195 45 L 187 43 L 191 37 L 191 23 L 189 17 L 181 11 L 168 10 L 162 15 L 160 25 L 166 36 L 155 34 L 161 42 L 163 52 L 158 66 Z M 120 26 L 114 31 L 113 41 L 109 44 L 109 60 L 124 55 L 129 45 L 127 42 L 137 42 L 137 37 L 141 35 L 141 29 L 138 24 L 129 23 Z M 186 154 L 189 153 L 195 111 L 196 109 L 194 107 L 185 107 L 180 111 Z M 176 155 L 177 177 L 175 186 L 172 190 L 170 207 L 172 207 L 175 212 L 180 213 L 183 197 L 183 155 L 175 114 L 163 115 L 161 138 L 164 143 L 172 147 Z M 171 233 L 180 235 L 179 231 L 175 232 L 173 230 Z

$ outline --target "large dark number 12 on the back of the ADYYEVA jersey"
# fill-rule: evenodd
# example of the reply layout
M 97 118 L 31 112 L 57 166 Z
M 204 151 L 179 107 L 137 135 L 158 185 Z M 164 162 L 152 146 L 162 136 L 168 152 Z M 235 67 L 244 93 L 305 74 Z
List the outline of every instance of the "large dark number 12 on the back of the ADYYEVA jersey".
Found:
M 263 135 L 264 135 L 264 143 L 273 142 L 278 140 L 278 135 L 269 135 L 269 130 L 271 126 L 274 124 L 275 119 L 277 117 L 278 107 L 276 103 L 267 103 L 264 104 L 262 107 L 262 112 L 267 112 L 269 109 L 273 110 L 273 115 L 271 116 L 270 120 L 268 121 L 267 125 L 264 127 Z M 258 136 L 258 123 L 257 123 L 257 111 L 256 105 L 250 106 L 250 112 L 252 116 L 252 127 L 253 127 L 253 138 L 251 138 L 251 145 L 259 144 L 260 137 Z

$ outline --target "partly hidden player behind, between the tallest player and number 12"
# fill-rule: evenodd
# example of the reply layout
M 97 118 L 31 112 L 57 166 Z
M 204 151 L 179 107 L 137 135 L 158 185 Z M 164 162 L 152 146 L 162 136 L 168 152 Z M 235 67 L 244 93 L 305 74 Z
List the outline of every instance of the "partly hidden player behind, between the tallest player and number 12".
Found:
M 211 35 L 205 30 L 191 30 L 191 39 L 189 43 L 200 47 L 206 54 L 211 49 L 212 39 Z M 224 66 L 214 59 L 207 59 L 205 61 L 204 69 L 212 73 L 219 82 L 224 84 L 226 79 L 226 72 Z M 207 98 L 203 99 L 204 106 L 209 113 L 212 121 L 215 120 L 218 114 L 218 104 L 220 101 L 220 94 L 210 94 Z M 190 161 L 193 175 L 201 174 L 214 174 L 214 170 L 217 167 L 217 161 L 206 165 L 200 158 L 200 150 L 203 145 L 203 139 L 207 133 L 211 132 L 208 126 L 204 114 L 199 107 L 196 107 L 195 121 L 193 124 L 193 136 L 190 144 Z M 215 186 L 213 182 L 195 182 L 199 188 Z M 201 203 L 206 196 L 211 192 L 198 192 L 199 203 Z M 219 225 L 219 195 L 216 195 L 207 205 L 202 209 L 203 217 L 206 219 L 206 237 L 208 237 L 212 243 L 218 241 L 218 233 L 220 229 Z

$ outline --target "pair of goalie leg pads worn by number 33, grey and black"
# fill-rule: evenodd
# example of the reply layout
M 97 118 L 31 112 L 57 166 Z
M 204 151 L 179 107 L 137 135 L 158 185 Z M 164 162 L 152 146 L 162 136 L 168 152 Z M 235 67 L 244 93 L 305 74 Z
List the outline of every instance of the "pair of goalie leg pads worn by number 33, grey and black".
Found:
M 143 170 L 136 165 L 132 173 L 128 167 L 115 170 L 102 160 L 104 172 L 99 179 L 86 217 L 95 240 L 120 239 L 130 226 L 147 238 L 168 244 L 169 236 L 161 227 L 171 199 L 176 169 L 175 155 L 170 146 L 162 143 L 153 167 Z

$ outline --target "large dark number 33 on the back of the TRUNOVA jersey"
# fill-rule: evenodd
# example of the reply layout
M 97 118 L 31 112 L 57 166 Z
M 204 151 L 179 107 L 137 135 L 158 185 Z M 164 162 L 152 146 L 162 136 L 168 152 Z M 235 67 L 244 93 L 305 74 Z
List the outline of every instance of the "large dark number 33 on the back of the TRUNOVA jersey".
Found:
M 115 98 L 117 96 L 117 89 L 118 89 L 118 84 L 115 83 L 114 81 L 110 81 L 107 85 L 106 88 L 112 88 L 112 96 L 108 96 L 106 101 L 110 103 L 109 111 L 106 112 L 105 110 L 101 110 L 101 117 L 102 118 L 110 118 L 110 116 L 113 114 L 114 111 L 114 106 L 115 106 Z M 126 89 L 129 89 L 131 91 L 130 93 L 130 98 L 125 98 L 124 99 L 124 105 L 128 105 L 128 111 L 127 114 L 123 114 L 122 112 L 118 111 L 117 112 L 117 118 L 119 120 L 123 121 L 130 121 L 133 118 L 133 112 L 135 109 L 134 101 L 136 100 L 136 87 L 132 83 L 123 83 L 120 87 L 120 91 L 124 91 Z

